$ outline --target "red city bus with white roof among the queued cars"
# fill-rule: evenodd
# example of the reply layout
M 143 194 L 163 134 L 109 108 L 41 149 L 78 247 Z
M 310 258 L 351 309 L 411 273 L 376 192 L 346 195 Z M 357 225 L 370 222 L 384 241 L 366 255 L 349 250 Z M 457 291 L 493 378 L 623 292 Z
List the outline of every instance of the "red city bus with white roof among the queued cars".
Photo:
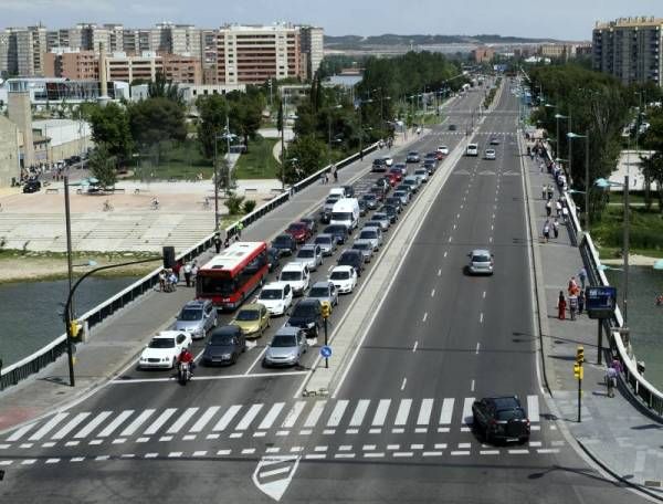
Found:
M 198 270 L 196 296 L 235 309 L 267 275 L 267 244 L 235 242 Z

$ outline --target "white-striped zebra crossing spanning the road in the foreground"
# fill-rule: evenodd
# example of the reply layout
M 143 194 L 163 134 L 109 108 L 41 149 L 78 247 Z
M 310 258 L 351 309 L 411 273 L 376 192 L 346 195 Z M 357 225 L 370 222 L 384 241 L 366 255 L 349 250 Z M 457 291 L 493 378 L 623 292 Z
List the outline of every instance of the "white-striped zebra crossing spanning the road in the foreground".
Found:
M 403 434 L 469 432 L 473 397 L 424 399 L 308 399 L 292 403 L 146 408 L 122 411 L 61 411 L 0 438 L 0 453 L 10 448 L 56 444 L 123 444 L 181 439 L 214 440 L 323 434 Z M 532 430 L 540 426 L 539 398 L 527 396 Z M 552 422 L 546 428 L 555 430 Z

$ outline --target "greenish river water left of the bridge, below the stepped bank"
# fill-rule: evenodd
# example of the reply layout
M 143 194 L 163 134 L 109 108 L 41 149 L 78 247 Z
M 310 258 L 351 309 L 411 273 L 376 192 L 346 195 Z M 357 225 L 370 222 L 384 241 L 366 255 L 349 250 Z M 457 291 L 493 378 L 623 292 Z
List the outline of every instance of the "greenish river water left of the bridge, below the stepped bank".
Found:
M 127 285 L 135 277 L 98 279 L 83 281 L 76 290 L 75 311 L 81 315 Z M 23 282 L 0 285 L 0 358 L 3 366 L 21 360 L 64 334 L 62 322 L 69 282 Z

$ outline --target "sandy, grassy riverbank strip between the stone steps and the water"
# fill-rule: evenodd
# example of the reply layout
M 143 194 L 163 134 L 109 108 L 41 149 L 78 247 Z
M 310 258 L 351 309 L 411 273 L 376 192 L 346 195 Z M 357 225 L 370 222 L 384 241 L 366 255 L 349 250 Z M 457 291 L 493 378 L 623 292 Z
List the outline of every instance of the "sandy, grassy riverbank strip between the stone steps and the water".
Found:
M 96 263 L 94 266 L 76 266 L 75 274 L 77 276 L 94 267 L 150 258 L 155 258 L 155 261 L 130 266 L 114 267 L 108 271 L 99 272 L 97 275 L 112 279 L 120 276 L 143 276 L 159 266 L 160 255 L 150 252 L 75 252 L 73 254 L 73 263 L 86 264 L 88 261 L 94 261 Z M 0 251 L 0 284 L 52 281 L 66 277 L 67 262 L 65 253 L 23 252 L 19 250 Z

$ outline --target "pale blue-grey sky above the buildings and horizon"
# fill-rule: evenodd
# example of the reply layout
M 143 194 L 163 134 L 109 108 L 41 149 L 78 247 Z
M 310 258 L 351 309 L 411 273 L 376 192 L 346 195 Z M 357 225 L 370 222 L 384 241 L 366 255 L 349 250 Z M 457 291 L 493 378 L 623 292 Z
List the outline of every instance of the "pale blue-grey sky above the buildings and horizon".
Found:
M 657 9 L 656 9 L 657 8 Z M 487 34 L 589 40 L 597 20 L 663 17 L 662 0 L 0 0 L 0 24 L 215 28 L 292 21 L 330 35 Z

